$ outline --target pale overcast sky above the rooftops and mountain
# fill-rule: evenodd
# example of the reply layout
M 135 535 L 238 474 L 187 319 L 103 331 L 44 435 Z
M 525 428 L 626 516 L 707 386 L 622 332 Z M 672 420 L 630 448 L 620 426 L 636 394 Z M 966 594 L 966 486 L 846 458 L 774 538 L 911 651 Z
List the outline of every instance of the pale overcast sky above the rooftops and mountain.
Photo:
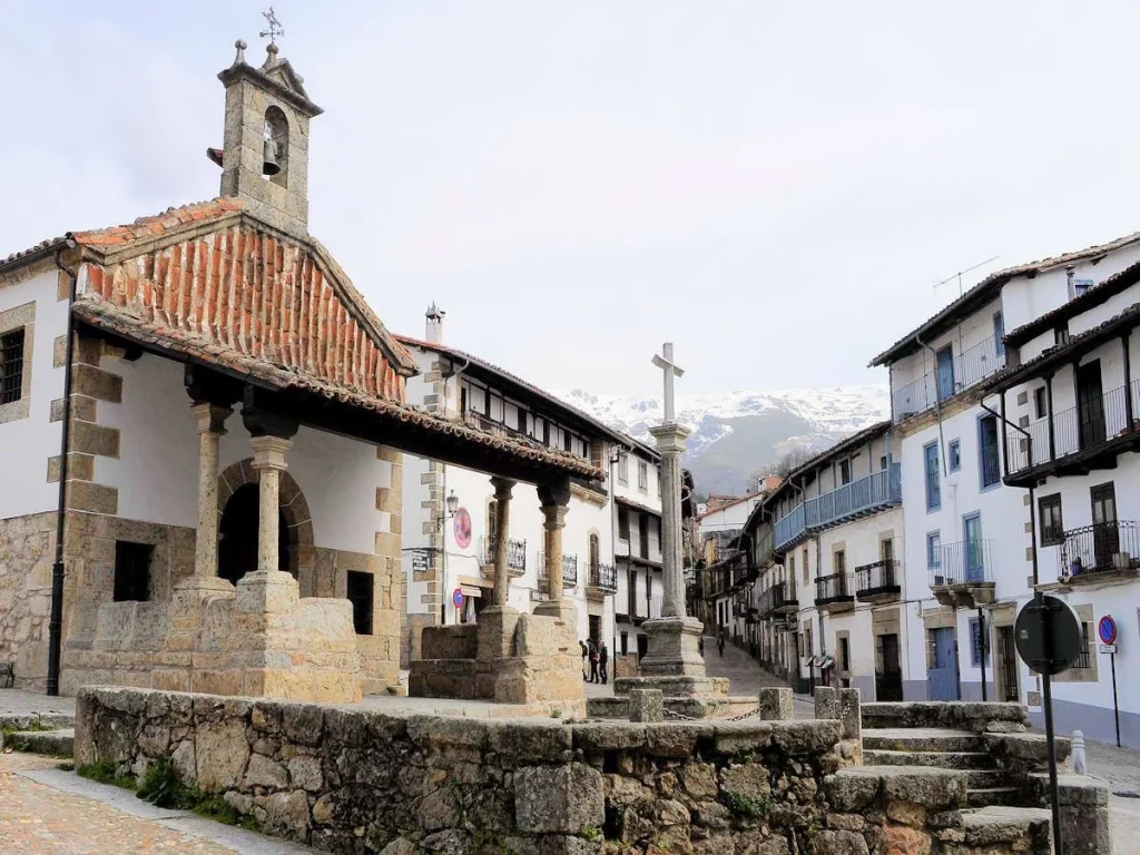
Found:
M 0 255 L 210 198 L 259 2 L 0 0 Z M 1140 229 L 1135 2 L 277 0 L 310 230 L 548 388 L 880 382 L 979 275 Z

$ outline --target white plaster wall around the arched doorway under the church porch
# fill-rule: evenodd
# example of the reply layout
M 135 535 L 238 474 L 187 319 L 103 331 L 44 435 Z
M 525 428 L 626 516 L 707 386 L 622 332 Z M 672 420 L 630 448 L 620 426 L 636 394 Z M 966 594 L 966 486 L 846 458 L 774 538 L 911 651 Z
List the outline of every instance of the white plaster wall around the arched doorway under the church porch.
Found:
M 120 430 L 117 459 L 97 457 L 95 480 L 117 488 L 119 515 L 142 522 L 197 524 L 198 437 L 182 366 L 145 355 L 137 361 L 104 357 L 100 368 L 123 378 L 122 404 L 100 401 L 99 424 Z M 219 473 L 253 456 L 241 405 L 226 420 Z M 314 545 L 372 554 L 377 531 L 389 530 L 376 510 L 376 488 L 390 484 L 391 464 L 376 447 L 301 427 L 286 454 L 312 514 Z

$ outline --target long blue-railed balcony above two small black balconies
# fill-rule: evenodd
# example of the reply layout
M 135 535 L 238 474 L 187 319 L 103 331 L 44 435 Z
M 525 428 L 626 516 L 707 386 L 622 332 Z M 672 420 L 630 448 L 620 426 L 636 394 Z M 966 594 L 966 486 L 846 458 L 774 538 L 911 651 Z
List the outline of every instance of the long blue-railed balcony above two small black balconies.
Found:
M 779 520 L 772 530 L 772 551 L 783 555 L 808 535 L 879 513 L 902 500 L 902 466 L 893 463 L 881 472 L 809 498 Z

